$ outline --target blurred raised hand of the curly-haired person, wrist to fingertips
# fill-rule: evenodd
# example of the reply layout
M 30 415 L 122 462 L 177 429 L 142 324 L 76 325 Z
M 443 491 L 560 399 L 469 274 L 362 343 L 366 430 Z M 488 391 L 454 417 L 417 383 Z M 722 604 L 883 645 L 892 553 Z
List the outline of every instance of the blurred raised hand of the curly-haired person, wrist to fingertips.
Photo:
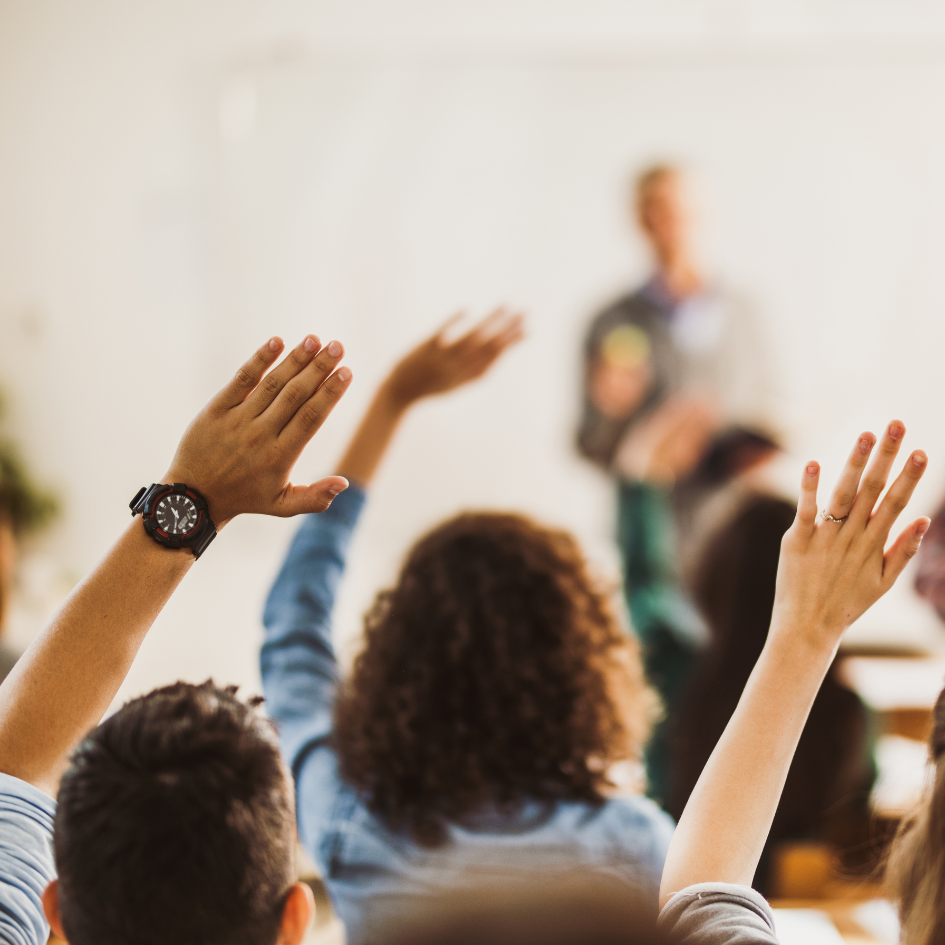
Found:
M 391 371 L 385 387 L 400 406 L 406 407 L 421 397 L 444 394 L 482 377 L 506 348 L 524 337 L 522 315 L 497 308 L 464 335 L 450 341 L 450 329 L 461 317 L 451 318 Z

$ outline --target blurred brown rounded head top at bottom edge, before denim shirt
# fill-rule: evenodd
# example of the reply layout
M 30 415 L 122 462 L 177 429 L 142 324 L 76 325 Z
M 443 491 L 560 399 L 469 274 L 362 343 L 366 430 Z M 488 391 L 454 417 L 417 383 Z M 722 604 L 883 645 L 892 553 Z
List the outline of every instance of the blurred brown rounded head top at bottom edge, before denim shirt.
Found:
M 475 885 L 393 921 L 383 945 L 668 945 L 639 890 L 603 875 Z

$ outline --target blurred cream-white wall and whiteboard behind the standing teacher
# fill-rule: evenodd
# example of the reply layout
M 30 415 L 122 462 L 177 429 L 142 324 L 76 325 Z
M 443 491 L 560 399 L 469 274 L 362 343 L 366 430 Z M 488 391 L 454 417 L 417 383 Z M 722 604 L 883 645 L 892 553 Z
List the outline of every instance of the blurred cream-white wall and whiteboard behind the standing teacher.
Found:
M 62 500 L 22 550 L 26 642 L 271 334 L 341 339 L 355 384 L 297 470 L 330 471 L 381 372 L 459 308 L 529 339 L 418 409 L 357 539 L 356 632 L 412 539 L 465 507 L 572 528 L 616 579 L 612 486 L 574 451 L 580 342 L 646 273 L 627 213 L 691 169 L 710 269 L 763 314 L 795 466 L 830 481 L 893 416 L 945 483 L 945 9 L 847 0 L 0 0 L 5 429 Z M 237 520 L 119 698 L 258 687 L 291 522 Z M 903 582 L 864 641 L 940 648 Z

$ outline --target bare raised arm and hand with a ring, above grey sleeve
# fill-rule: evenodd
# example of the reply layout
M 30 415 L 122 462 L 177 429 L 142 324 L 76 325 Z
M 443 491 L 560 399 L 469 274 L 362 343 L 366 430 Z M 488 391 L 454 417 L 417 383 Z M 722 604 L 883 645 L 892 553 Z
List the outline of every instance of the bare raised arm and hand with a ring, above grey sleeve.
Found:
M 696 883 L 751 883 L 840 638 L 892 587 L 928 529 L 927 518 L 916 519 L 885 550 L 927 464 L 923 452 L 912 453 L 875 507 L 904 434 L 901 423 L 889 425 L 865 476 L 876 438 L 861 435 L 827 504 L 829 517 L 818 516 L 820 468 L 807 465 L 797 517 L 781 545 L 768 640 L 680 818 L 661 904 Z

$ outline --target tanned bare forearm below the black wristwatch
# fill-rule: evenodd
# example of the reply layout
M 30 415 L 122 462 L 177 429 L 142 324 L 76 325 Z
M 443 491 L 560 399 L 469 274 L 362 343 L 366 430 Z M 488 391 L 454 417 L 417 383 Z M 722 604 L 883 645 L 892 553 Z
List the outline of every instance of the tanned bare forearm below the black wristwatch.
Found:
M 0 771 L 54 794 L 66 756 L 99 723 L 194 562 L 132 522 L 0 686 Z M 49 684 L 49 667 L 68 668 Z

